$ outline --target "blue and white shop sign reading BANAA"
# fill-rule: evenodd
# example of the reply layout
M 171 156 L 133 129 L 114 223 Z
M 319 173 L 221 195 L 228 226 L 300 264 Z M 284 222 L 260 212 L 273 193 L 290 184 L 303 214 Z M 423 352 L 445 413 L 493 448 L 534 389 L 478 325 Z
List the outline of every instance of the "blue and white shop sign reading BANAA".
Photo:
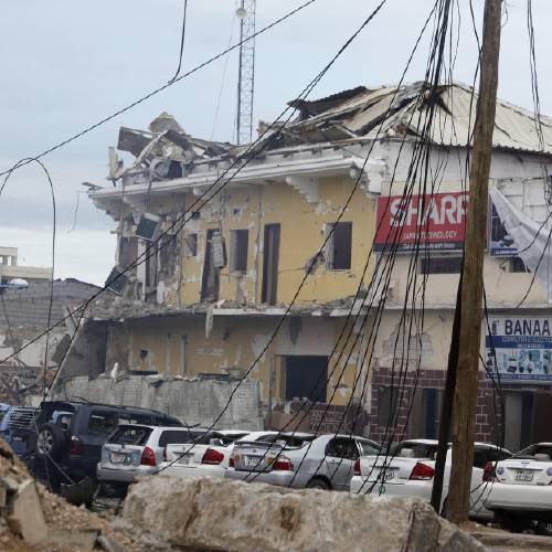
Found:
M 501 380 L 552 381 L 551 318 L 500 316 L 489 321 L 491 331 L 485 343 L 489 371 L 493 370 L 496 355 Z

